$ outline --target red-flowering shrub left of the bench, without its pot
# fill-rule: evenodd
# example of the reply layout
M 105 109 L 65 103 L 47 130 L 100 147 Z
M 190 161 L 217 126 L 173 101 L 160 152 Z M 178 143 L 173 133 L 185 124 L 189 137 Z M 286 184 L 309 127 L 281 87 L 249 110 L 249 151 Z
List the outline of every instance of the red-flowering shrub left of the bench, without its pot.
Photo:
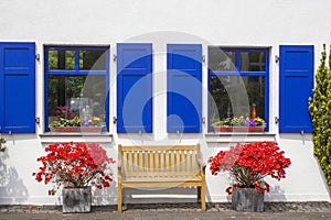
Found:
M 35 180 L 54 183 L 56 189 L 84 188 L 96 185 L 109 187 L 113 175 L 109 165 L 115 163 L 106 151 L 95 143 L 56 143 L 45 147 L 46 156 L 36 161 L 42 163 L 39 172 L 32 173 Z M 102 183 L 102 185 L 100 185 Z M 55 188 L 49 195 L 55 195 Z

